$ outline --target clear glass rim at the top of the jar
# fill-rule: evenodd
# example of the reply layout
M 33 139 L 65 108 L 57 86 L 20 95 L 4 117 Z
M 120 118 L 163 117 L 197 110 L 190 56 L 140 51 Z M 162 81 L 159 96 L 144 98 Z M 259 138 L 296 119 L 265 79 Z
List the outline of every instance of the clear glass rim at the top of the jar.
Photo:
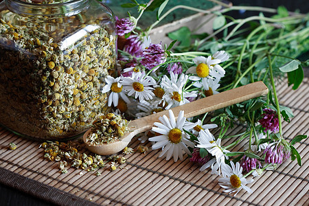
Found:
M 27 14 L 32 16 L 54 16 L 65 15 L 72 16 L 80 13 L 89 7 L 89 0 L 71 0 L 62 3 L 30 3 L 21 0 L 5 0 L 8 9 L 18 14 Z M 42 9 L 47 9 L 43 13 Z

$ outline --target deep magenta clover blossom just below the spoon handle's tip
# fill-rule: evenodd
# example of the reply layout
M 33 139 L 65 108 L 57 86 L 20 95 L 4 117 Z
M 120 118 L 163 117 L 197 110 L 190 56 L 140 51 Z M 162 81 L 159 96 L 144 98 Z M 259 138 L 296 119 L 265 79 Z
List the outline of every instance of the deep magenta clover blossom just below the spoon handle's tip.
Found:
M 279 119 L 275 111 L 270 108 L 263 109 L 264 114 L 262 114 L 262 119 L 259 120 L 262 127 L 264 127 L 264 133 L 267 130 L 271 130 L 273 133 L 279 131 Z

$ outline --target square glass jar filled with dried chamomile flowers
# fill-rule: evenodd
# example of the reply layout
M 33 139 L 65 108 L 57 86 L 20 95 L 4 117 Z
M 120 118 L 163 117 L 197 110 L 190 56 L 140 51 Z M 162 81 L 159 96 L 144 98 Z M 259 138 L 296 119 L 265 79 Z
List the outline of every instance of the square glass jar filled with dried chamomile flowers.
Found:
M 35 139 L 71 139 L 108 112 L 116 72 L 113 13 L 96 0 L 0 3 L 0 124 Z

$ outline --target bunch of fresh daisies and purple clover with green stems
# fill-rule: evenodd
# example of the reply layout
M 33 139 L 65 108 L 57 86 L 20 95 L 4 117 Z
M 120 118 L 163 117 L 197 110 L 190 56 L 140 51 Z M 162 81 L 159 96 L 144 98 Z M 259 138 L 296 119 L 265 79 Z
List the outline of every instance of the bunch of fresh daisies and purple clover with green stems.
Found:
M 308 60 L 301 54 L 308 51 L 309 16 L 288 12 L 284 7 L 274 10 L 220 3 L 219 10 L 205 11 L 179 5 L 178 8 L 216 14 L 214 33 L 194 34 L 182 27 L 168 34 L 169 45 L 152 43 L 152 28 L 174 10 L 165 11 L 167 4 L 168 0 L 131 0 L 122 5 L 137 8 L 139 15 L 117 18 L 121 69 L 117 77 L 108 76 L 102 88 L 102 93 L 109 95 L 108 106 L 117 115 L 135 119 L 263 81 L 269 89 L 266 97 L 190 119 L 183 116 L 183 111 L 175 119 L 170 111 L 169 117 L 160 117 L 139 140 L 150 141 L 152 150 L 161 150 L 159 157 L 166 160 L 181 161 L 184 154 L 189 155 L 201 171 L 210 168 L 212 174 L 220 175 L 218 182 L 229 193 L 237 194 L 241 189 L 252 192 L 247 185 L 253 182 L 249 175 L 275 170 L 288 159 L 297 159 L 301 165 L 293 145 L 307 136 L 297 135 L 290 142 L 284 138 L 282 122 L 290 122 L 293 112 L 279 105 L 276 87 L 286 75 L 293 89 L 304 78 L 303 67 L 308 66 Z M 255 10 L 260 15 L 233 19 L 226 15 L 231 10 Z M 157 21 L 141 29 L 138 21 L 144 12 L 157 12 Z M 264 12 L 273 16 L 265 17 Z M 245 128 L 241 133 L 226 135 L 227 130 L 239 124 Z M 220 132 L 215 137 L 212 130 Z M 222 139 L 227 138 L 233 138 L 233 143 L 222 144 Z M 243 139 L 248 141 L 247 148 L 233 151 Z

